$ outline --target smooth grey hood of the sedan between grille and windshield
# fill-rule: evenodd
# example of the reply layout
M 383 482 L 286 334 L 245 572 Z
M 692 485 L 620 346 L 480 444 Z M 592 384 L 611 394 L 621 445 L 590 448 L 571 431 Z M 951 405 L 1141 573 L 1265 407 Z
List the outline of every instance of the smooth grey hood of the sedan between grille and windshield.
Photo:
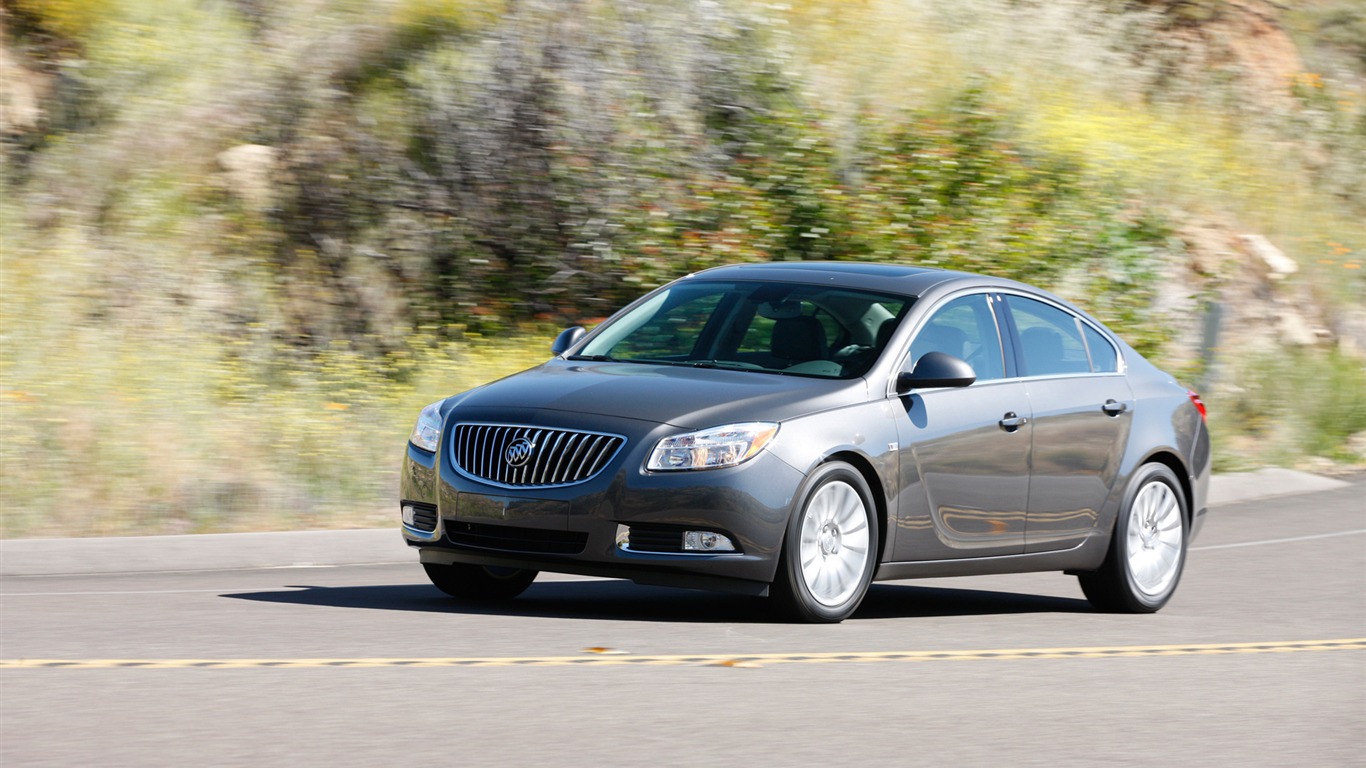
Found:
M 784 421 L 866 398 L 863 379 L 555 359 L 458 395 L 451 406 L 557 410 L 702 429 Z

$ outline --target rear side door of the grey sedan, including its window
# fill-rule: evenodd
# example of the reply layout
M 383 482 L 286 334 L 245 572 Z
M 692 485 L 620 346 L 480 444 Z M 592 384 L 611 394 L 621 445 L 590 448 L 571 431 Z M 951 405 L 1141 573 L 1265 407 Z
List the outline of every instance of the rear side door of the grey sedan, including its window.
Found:
M 1005 307 L 1033 414 L 1024 549 L 1068 549 L 1096 530 L 1119 474 L 1134 396 L 1115 344 L 1085 318 L 1015 294 Z

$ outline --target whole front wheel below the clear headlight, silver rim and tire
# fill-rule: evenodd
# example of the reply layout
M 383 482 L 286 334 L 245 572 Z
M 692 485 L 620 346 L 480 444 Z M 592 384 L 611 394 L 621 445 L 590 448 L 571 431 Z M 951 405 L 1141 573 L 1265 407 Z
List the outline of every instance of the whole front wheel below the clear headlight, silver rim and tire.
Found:
M 821 465 L 787 523 L 775 597 L 792 619 L 843 622 L 873 582 L 877 541 L 867 481 L 847 463 Z

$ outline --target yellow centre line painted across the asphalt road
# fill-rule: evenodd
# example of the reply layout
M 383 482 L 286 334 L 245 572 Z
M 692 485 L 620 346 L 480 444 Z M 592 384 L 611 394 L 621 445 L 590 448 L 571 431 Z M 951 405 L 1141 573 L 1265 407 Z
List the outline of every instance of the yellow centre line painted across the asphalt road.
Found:
M 992 650 L 878 650 L 867 653 L 697 653 L 679 656 L 470 656 L 451 659 L 4 659 L 0 670 L 298 670 L 318 667 L 762 667 L 846 661 L 985 661 L 1018 659 L 1124 659 L 1366 650 L 1366 638 L 1201 645 L 1109 645 L 1093 648 L 1003 648 Z

